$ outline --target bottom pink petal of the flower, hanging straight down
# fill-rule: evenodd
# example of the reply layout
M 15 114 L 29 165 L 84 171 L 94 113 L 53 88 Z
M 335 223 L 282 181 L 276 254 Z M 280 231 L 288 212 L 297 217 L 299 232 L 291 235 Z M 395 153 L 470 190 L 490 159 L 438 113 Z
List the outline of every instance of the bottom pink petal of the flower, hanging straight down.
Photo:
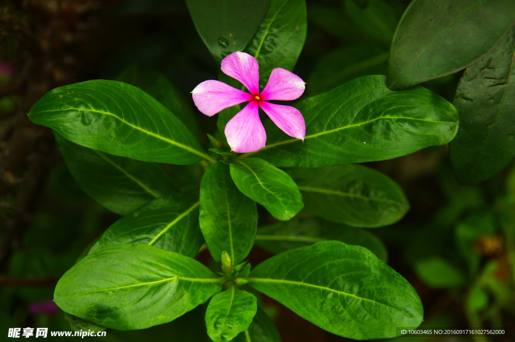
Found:
M 265 147 L 266 132 L 259 118 L 258 101 L 251 101 L 225 128 L 227 142 L 238 153 L 255 152 Z

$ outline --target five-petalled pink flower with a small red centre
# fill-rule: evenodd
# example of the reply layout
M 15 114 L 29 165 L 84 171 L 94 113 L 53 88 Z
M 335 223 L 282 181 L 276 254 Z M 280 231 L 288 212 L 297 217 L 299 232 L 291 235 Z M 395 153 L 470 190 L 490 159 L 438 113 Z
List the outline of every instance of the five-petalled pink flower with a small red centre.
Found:
M 282 68 L 272 70 L 268 83 L 259 92 L 259 65 L 245 52 L 233 52 L 222 60 L 224 74 L 235 78 L 249 90 L 245 93 L 220 81 L 204 81 L 193 89 L 193 101 L 207 116 L 250 101 L 226 125 L 225 135 L 235 152 L 255 152 L 265 147 L 266 132 L 259 118 L 259 107 L 284 133 L 304 140 L 306 124 L 294 107 L 274 104 L 267 100 L 295 100 L 304 93 L 305 83 L 300 77 Z

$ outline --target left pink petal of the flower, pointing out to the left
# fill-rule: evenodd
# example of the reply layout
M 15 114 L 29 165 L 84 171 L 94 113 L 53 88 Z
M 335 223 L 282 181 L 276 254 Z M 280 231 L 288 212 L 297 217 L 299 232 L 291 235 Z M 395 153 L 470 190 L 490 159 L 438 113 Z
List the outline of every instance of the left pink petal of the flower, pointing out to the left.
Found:
M 207 116 L 253 99 L 249 93 L 242 92 L 224 82 L 204 81 L 193 89 L 193 101 L 198 110 Z

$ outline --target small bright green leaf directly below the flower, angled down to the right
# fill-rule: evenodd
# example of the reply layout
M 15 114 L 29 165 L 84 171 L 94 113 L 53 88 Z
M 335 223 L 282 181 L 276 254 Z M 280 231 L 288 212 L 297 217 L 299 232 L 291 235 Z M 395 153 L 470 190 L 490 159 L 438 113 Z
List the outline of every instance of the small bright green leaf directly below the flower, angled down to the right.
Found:
M 263 159 L 249 158 L 232 163 L 231 177 L 239 191 L 264 206 L 278 220 L 288 221 L 304 206 L 291 177 Z

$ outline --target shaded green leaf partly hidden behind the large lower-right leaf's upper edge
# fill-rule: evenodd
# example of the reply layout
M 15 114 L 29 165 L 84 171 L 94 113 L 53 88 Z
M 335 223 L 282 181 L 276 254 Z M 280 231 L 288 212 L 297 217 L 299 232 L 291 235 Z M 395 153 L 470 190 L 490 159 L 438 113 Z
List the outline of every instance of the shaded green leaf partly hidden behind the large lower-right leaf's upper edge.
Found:
M 270 253 L 278 254 L 286 250 L 332 240 L 348 245 L 363 246 L 384 262 L 388 259 L 385 245 L 371 232 L 322 219 L 291 220 L 261 227 L 258 229 L 255 244 Z

